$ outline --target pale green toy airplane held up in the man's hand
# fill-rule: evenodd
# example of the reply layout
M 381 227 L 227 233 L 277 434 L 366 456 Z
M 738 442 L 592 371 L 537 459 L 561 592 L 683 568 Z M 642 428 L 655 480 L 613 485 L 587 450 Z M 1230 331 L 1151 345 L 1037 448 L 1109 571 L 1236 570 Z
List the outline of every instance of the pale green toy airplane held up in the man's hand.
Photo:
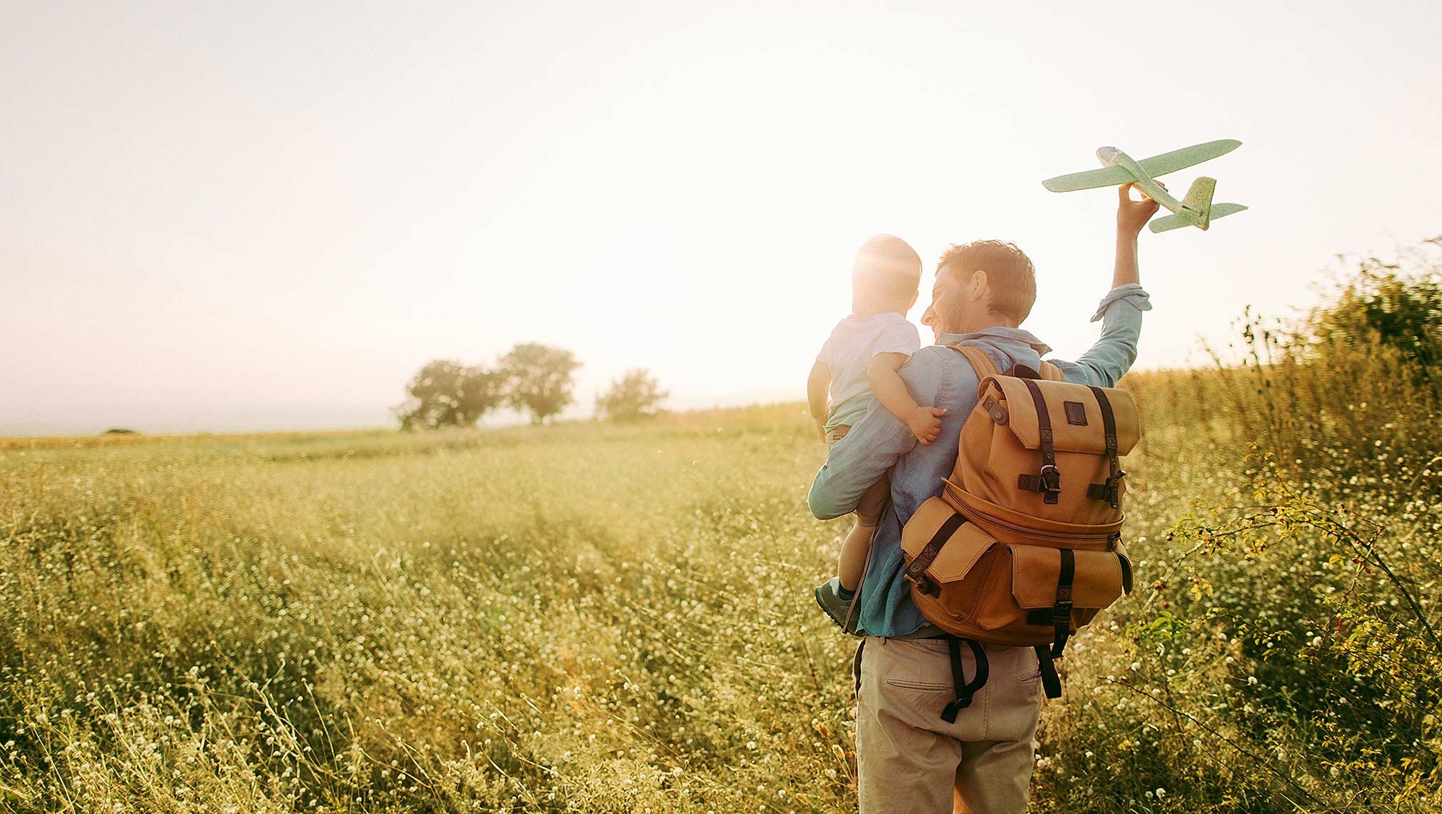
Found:
M 1181 227 L 1206 229 L 1211 225 L 1211 221 L 1234 215 L 1246 209 L 1246 206 L 1242 204 L 1213 204 L 1211 193 L 1217 189 L 1217 179 L 1214 178 L 1203 176 L 1191 182 L 1191 189 L 1187 191 L 1187 195 L 1181 201 L 1168 195 L 1152 179 L 1200 165 L 1201 162 L 1208 162 L 1217 156 L 1224 156 L 1240 146 L 1242 141 L 1223 139 L 1220 141 L 1182 147 L 1181 150 L 1172 150 L 1171 153 L 1162 153 L 1139 162 L 1116 147 L 1097 147 L 1096 157 L 1106 169 L 1058 175 L 1057 178 L 1043 180 L 1041 185 L 1051 192 L 1073 192 L 1097 186 L 1135 183 L 1136 189 L 1141 189 L 1144 195 L 1174 212 L 1172 215 L 1152 221 L 1149 228 L 1154 232 L 1165 232 L 1167 229 Z

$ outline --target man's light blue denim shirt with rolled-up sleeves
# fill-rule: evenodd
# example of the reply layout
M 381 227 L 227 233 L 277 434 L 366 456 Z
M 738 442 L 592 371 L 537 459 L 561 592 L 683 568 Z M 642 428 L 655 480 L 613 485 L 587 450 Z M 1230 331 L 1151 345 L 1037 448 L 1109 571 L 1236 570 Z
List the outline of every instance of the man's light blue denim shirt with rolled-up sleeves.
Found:
M 1092 322 L 1102 320 L 1102 338 L 1096 345 L 1074 362 L 1047 361 L 1061 368 L 1067 381 L 1116 385 L 1136 361 L 1142 312 L 1151 307 L 1151 297 L 1139 284 L 1112 289 L 1092 316 Z M 946 408 L 943 439 L 960 437 L 981 384 L 966 356 L 946 348 L 962 343 L 985 351 L 1002 371 L 1014 364 L 1035 369 L 1041 355 L 1051 351 L 1019 328 L 942 333 L 936 345 L 917 351 L 901 367 L 901 378 L 917 404 Z M 942 494 L 942 478 L 949 476 L 953 466 L 955 443 L 919 445 L 911 429 L 872 398 L 865 417 L 831 446 L 826 463 L 816 472 L 806 502 L 819 520 L 831 520 L 855 511 L 861 494 L 891 471 L 891 507 L 877 525 L 867 576 L 857 598 L 864 632 L 874 636 L 940 632 L 911 603 L 910 586 L 901 574 L 901 527 L 923 501 Z

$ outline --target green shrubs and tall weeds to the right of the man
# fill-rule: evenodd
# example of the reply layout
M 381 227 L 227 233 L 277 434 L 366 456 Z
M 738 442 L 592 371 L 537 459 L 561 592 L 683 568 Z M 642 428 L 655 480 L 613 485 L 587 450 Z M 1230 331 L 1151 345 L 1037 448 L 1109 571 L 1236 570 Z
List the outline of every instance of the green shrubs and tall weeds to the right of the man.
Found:
M 1133 544 L 1123 647 L 1080 636 L 1043 808 L 1442 805 L 1436 248 L 1247 313 L 1210 371 L 1129 377 L 1144 499 L 1191 509 Z

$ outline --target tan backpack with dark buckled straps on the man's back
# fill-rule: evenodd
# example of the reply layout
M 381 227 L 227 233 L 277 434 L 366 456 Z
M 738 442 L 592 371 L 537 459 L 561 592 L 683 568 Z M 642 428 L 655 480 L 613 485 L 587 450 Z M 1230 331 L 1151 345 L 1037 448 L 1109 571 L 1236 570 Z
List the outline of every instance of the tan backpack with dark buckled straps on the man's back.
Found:
M 1141 437 L 1123 390 L 1063 381 L 1048 362 L 1002 375 L 979 348 L 952 349 L 981 378 L 976 408 L 942 495 L 901 530 L 911 599 L 952 639 L 947 720 L 986 681 L 981 644 L 1034 647 L 1047 696 L 1058 697 L 1051 660 L 1067 636 L 1131 593 L 1120 456 Z M 970 683 L 962 641 L 976 655 Z

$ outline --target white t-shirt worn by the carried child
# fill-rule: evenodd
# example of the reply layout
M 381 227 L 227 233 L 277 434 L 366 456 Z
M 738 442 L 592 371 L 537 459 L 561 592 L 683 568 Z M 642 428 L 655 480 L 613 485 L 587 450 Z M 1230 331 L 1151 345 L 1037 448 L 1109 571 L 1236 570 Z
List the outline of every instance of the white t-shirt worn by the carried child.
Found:
M 921 335 L 906 316 L 888 312 L 848 316 L 836 323 L 816 361 L 831 369 L 831 408 L 826 424 L 849 424 L 867 413 L 871 382 L 867 367 L 877 354 L 906 354 L 921 348 Z

